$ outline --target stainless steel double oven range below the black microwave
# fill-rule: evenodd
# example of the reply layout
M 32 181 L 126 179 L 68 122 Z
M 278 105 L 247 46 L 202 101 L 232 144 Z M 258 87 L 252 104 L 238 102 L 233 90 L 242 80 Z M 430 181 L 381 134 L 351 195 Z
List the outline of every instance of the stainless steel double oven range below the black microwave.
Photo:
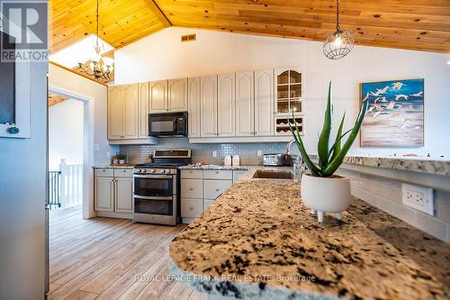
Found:
M 175 225 L 180 220 L 180 172 L 191 150 L 155 150 L 153 163 L 133 170 L 133 222 Z

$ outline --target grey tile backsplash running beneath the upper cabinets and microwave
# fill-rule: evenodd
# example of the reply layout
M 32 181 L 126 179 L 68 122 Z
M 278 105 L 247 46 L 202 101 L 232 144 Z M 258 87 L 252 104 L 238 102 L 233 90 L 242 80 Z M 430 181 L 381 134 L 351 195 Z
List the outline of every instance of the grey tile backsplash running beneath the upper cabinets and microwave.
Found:
M 157 145 L 121 145 L 121 151 L 129 154 L 130 163 L 145 162 L 148 155 L 155 149 L 188 148 L 192 150 L 193 162 L 205 164 L 222 164 L 225 155 L 240 156 L 241 165 L 262 165 L 263 157 L 257 156 L 257 151 L 266 153 L 284 153 L 286 142 L 270 143 L 223 143 L 223 144 L 192 144 L 184 138 L 159 138 Z M 212 152 L 217 151 L 217 157 Z M 291 148 L 295 153 L 295 147 Z

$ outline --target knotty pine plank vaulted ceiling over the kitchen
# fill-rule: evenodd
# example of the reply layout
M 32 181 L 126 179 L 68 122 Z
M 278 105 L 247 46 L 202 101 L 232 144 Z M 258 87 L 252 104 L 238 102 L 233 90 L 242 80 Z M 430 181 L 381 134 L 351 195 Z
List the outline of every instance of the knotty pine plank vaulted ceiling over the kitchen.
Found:
M 100 0 L 100 36 L 115 48 L 170 25 L 324 41 L 334 0 Z M 340 0 L 356 43 L 450 53 L 450 0 Z M 95 32 L 95 0 L 50 0 L 50 50 Z

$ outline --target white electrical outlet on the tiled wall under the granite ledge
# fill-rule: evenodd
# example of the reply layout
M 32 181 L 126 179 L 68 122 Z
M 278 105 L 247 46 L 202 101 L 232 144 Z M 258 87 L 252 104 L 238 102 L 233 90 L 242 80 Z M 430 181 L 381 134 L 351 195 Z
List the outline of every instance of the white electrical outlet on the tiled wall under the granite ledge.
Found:
M 426 214 L 435 214 L 433 189 L 423 186 L 401 184 L 401 202 Z

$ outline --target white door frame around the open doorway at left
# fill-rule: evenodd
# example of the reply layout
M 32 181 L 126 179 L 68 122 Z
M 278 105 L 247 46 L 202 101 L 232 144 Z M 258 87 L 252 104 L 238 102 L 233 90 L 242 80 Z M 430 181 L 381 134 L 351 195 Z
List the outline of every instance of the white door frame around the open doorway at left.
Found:
M 83 103 L 83 218 L 93 218 L 95 216 L 94 169 L 92 168 L 94 162 L 94 98 L 54 85 L 49 85 L 49 94 L 63 95 Z

